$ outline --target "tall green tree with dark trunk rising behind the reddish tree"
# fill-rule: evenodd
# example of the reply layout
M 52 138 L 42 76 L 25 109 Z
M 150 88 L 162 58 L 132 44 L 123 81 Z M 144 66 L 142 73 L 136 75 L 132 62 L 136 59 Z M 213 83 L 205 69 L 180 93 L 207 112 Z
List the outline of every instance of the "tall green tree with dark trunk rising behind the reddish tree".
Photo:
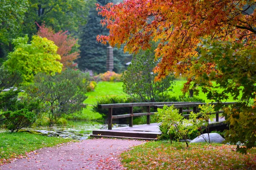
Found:
M 55 31 L 78 31 L 86 23 L 92 0 L 29 0 L 29 8 L 23 22 L 23 33 L 36 34 L 37 22 Z

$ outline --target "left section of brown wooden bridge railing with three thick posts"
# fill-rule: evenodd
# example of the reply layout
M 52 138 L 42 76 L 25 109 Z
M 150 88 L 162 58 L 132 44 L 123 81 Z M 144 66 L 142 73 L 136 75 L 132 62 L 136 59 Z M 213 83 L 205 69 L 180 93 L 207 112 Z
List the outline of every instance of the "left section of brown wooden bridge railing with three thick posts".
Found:
M 120 118 L 126 118 L 129 117 L 129 126 L 133 126 L 133 117 L 134 116 L 147 116 L 147 124 L 150 124 L 150 115 L 153 115 L 155 112 L 150 112 L 150 108 L 153 106 L 158 105 L 161 107 L 161 105 L 182 105 L 182 104 L 188 104 L 188 103 L 200 103 L 200 102 L 145 102 L 145 103 L 117 103 L 117 104 L 105 104 L 105 105 L 98 105 L 98 108 L 100 109 L 108 109 L 108 130 L 112 129 L 112 120 L 113 119 L 120 119 Z M 113 116 L 113 108 L 129 108 L 128 114 L 120 114 L 120 115 L 114 115 Z M 133 113 L 133 107 L 146 107 L 147 112 L 146 113 Z

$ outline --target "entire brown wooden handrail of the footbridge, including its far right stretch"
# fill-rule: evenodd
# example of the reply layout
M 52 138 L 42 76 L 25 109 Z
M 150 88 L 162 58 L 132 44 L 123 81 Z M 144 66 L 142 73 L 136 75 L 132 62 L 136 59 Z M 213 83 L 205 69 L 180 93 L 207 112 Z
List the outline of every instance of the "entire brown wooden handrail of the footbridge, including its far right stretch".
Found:
M 236 102 L 226 102 L 221 103 L 224 105 L 233 105 Z M 134 116 L 147 116 L 147 124 L 150 124 L 150 115 L 153 115 L 155 112 L 150 112 L 150 107 L 153 106 L 153 108 L 156 110 L 157 108 L 163 108 L 164 105 L 171 106 L 174 105 L 175 108 L 179 108 L 180 114 L 183 114 L 184 112 L 192 111 L 189 108 L 193 108 L 193 111 L 196 113 L 198 112 L 198 105 L 205 105 L 207 103 L 201 103 L 201 102 L 145 102 L 145 103 L 117 103 L 117 104 L 105 104 L 105 105 L 98 105 L 98 108 L 108 108 L 108 129 L 112 129 L 112 120 L 113 119 L 120 119 L 120 118 L 126 118 L 129 117 L 129 126 L 133 126 L 133 117 Z M 212 105 L 217 105 L 219 103 L 210 103 Z M 146 113 L 133 113 L 133 107 L 147 107 Z M 124 108 L 129 107 L 129 113 L 128 114 L 121 114 L 121 115 L 115 115 L 113 116 L 113 108 Z M 186 108 L 186 110 L 183 110 L 183 108 Z M 222 113 L 222 111 L 217 111 L 212 114 L 216 114 L 216 122 L 218 122 L 218 114 Z M 184 117 L 188 118 L 189 114 L 183 115 Z

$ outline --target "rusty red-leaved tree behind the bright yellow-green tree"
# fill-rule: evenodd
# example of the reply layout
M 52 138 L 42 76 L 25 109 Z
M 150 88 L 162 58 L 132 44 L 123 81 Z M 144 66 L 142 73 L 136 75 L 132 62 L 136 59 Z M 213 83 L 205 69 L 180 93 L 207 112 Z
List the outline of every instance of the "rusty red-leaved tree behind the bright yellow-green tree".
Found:
M 63 64 L 63 70 L 76 67 L 77 64 L 74 63 L 74 60 L 79 57 L 79 51 L 72 51 L 72 48 L 77 45 L 78 39 L 68 36 L 67 31 L 55 33 L 54 30 L 45 27 L 44 24 L 39 26 L 37 34 L 41 37 L 46 37 L 48 40 L 52 40 L 58 46 L 57 53 L 61 55 L 60 62 Z

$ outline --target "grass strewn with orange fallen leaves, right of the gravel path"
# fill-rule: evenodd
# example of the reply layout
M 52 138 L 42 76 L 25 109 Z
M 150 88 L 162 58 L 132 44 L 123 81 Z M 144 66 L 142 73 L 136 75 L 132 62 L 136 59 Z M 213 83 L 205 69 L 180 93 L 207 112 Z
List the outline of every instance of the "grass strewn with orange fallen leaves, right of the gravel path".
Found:
M 121 154 L 128 169 L 255 169 L 256 148 L 247 155 L 236 152 L 235 145 L 190 144 L 169 141 L 147 142 Z

